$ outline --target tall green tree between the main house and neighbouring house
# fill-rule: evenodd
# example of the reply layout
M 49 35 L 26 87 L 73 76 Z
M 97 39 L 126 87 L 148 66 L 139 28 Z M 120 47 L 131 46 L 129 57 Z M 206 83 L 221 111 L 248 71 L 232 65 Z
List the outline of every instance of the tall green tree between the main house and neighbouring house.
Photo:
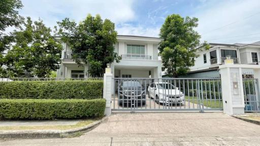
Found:
M 170 15 L 160 29 L 160 37 L 164 40 L 158 47 L 163 61 L 163 70 L 171 77 L 185 75 L 190 66 L 194 65 L 196 48 L 201 36 L 194 30 L 198 26 L 198 18 L 182 18 L 178 14 Z

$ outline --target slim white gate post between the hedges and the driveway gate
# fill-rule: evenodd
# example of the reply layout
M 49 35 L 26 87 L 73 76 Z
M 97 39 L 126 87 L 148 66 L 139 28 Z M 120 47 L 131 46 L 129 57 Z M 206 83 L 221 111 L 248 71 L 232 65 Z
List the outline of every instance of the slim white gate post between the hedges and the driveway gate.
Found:
M 104 74 L 104 87 L 103 87 L 103 98 L 106 99 L 105 115 L 111 115 L 111 88 L 112 87 L 112 74 L 110 64 L 107 64 L 106 73 Z

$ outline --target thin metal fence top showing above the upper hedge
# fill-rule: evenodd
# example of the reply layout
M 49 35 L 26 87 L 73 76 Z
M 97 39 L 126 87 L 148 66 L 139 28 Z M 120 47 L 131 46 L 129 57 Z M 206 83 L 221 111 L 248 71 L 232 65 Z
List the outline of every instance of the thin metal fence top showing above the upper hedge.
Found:
M 0 82 L 12 81 L 87 81 L 103 80 L 103 78 L 0 78 Z

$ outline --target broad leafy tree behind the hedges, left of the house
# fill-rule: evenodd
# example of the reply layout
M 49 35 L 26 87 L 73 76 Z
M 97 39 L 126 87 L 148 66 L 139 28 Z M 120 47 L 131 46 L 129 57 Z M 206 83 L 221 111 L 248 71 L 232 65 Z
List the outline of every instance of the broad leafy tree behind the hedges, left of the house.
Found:
M 51 36 L 51 29 L 42 20 L 32 22 L 29 17 L 24 29 L 12 33 L 15 44 L 3 58 L 8 77 L 49 77 L 58 69 L 62 45 Z

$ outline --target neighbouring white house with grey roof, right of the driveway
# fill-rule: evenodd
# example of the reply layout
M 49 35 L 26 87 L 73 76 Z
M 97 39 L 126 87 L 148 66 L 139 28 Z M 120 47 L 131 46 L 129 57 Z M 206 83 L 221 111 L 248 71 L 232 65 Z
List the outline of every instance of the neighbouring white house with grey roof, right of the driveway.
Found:
M 195 59 L 194 66 L 190 67 L 188 78 L 218 78 L 220 72 L 219 65 L 224 64 L 226 56 L 230 55 L 234 64 L 259 64 L 260 42 L 252 44 L 215 44 L 209 43 L 209 50 L 198 48 L 198 58 Z M 243 69 L 243 74 L 253 74 L 253 70 Z

